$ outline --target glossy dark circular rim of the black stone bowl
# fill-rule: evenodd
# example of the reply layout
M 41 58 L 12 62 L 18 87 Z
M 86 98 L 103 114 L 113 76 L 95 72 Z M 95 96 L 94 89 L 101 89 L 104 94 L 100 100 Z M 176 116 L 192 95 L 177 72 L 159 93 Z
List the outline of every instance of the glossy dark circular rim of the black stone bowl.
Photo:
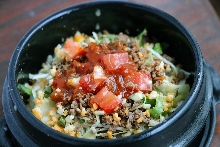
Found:
M 45 25 L 47 25 L 49 22 L 53 21 L 54 19 L 57 19 L 59 17 L 62 17 L 63 15 L 66 15 L 68 13 L 78 11 L 80 9 L 85 9 L 85 8 L 90 8 L 93 7 L 94 5 L 117 5 L 117 6 L 125 6 L 125 7 L 130 7 L 130 8 L 135 8 L 135 9 L 141 9 L 144 11 L 148 11 L 150 13 L 153 13 L 165 20 L 167 20 L 171 25 L 175 26 L 188 40 L 189 44 L 191 45 L 194 53 L 194 58 L 195 58 L 195 79 L 194 79 L 194 84 L 193 87 L 191 88 L 191 91 L 189 93 L 189 96 L 187 99 L 184 101 L 184 103 L 181 105 L 181 107 L 175 111 L 169 118 L 167 118 L 165 121 L 161 122 L 160 124 L 147 129 L 141 133 L 131 135 L 128 137 L 122 137 L 122 138 L 117 138 L 116 140 L 119 142 L 129 142 L 129 141 L 138 141 L 142 140 L 146 137 L 149 137 L 151 135 L 154 135 L 169 125 L 173 124 L 180 116 L 181 114 L 185 113 L 189 108 L 191 103 L 195 100 L 196 95 L 198 94 L 198 91 L 200 89 L 200 86 L 202 84 L 202 79 L 203 79 L 203 57 L 199 48 L 198 43 L 196 42 L 195 38 L 193 35 L 173 16 L 167 14 L 164 11 L 161 11 L 157 8 L 154 8 L 152 6 L 136 3 L 136 2 L 130 2 L 130 1 L 92 1 L 92 2 L 85 2 L 85 3 L 80 3 L 76 4 L 64 9 L 61 9 L 40 22 L 38 22 L 36 25 L 34 25 L 25 35 L 24 37 L 20 40 L 18 43 L 17 47 L 15 48 L 13 55 L 11 57 L 10 63 L 9 63 L 9 68 L 8 68 L 8 82 L 9 82 L 9 91 L 11 97 L 13 97 L 13 102 L 17 106 L 18 111 L 21 113 L 21 115 L 27 120 L 30 124 L 34 124 L 35 128 L 44 128 L 44 132 L 42 133 L 45 134 L 50 134 L 50 136 L 53 136 L 55 138 L 60 139 L 65 139 L 69 141 L 73 141 L 73 139 L 76 142 L 85 142 L 85 143 L 104 143 L 104 142 L 111 142 L 114 141 L 115 139 L 102 139 L 102 140 L 90 140 L 90 139 L 84 139 L 84 138 L 77 138 L 77 137 L 72 137 L 63 133 L 60 133 L 58 131 L 53 130 L 52 128 L 46 126 L 43 124 L 41 121 L 39 121 L 24 105 L 22 102 L 18 88 L 17 88 L 17 81 L 16 81 L 16 66 L 18 64 L 18 59 L 19 55 L 25 46 L 25 44 L 28 43 L 28 40 L 41 28 L 43 28 Z M 178 115 L 177 115 L 178 114 Z M 42 129 L 41 129 L 42 130 Z M 51 133 L 52 131 L 52 133 Z

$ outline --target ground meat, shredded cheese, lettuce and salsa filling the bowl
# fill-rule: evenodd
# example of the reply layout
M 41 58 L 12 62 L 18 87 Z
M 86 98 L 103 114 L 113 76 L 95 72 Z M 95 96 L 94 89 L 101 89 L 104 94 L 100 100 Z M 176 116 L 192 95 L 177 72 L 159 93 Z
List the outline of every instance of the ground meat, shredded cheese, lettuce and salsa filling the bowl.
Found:
M 19 85 L 27 108 L 54 130 L 88 139 L 130 136 L 164 121 L 187 98 L 190 73 L 146 32 L 76 32 Z

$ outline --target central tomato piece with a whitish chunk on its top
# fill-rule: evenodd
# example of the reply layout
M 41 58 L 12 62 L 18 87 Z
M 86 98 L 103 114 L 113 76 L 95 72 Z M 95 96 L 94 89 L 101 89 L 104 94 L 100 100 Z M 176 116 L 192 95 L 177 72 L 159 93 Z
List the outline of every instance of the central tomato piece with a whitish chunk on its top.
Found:
M 106 80 L 106 76 L 101 66 L 95 66 L 93 73 L 83 76 L 79 83 L 88 92 L 95 92 L 97 88 Z

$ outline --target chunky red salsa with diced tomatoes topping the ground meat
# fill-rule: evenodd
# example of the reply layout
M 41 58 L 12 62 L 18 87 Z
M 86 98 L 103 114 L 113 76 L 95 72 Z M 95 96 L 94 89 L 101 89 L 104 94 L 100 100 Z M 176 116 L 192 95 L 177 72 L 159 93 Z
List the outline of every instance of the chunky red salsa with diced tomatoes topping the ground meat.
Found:
M 139 71 L 124 48 L 126 46 L 121 42 L 105 46 L 92 42 L 83 48 L 67 39 L 64 49 L 73 62 L 69 69 L 56 72 L 51 100 L 66 104 L 77 100 L 78 94 L 92 93 L 90 105 L 96 103 L 110 113 L 121 103 L 118 96 L 128 98 L 137 91 L 152 91 L 151 75 Z M 80 75 L 79 82 L 68 84 L 68 80 L 76 75 Z

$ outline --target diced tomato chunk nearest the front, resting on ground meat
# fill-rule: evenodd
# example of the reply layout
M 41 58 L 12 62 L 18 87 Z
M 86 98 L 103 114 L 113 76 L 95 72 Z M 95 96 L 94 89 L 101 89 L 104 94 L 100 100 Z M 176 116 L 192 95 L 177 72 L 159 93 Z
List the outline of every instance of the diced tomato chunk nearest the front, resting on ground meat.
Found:
M 90 103 L 96 103 L 107 114 L 110 114 L 121 102 L 116 95 L 103 87 L 95 96 L 90 98 Z

